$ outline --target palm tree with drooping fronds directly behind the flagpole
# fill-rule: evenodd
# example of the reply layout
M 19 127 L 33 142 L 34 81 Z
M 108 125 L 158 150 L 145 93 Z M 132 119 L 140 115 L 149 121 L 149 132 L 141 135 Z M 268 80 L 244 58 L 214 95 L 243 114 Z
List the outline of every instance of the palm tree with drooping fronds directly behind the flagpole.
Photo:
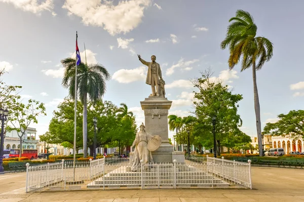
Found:
M 69 90 L 69 96 L 75 99 L 75 59 L 66 58 L 61 60 L 64 66 L 64 75 L 62 85 Z M 101 99 L 105 93 L 105 80 L 110 79 L 110 74 L 101 64 L 84 64 L 81 63 L 77 67 L 77 94 L 84 105 L 83 109 L 83 146 L 84 158 L 87 157 L 87 139 L 88 139 L 88 124 L 87 124 L 87 99 L 93 103 Z M 88 97 L 89 95 L 89 97 Z M 76 97 L 77 99 L 77 97 Z

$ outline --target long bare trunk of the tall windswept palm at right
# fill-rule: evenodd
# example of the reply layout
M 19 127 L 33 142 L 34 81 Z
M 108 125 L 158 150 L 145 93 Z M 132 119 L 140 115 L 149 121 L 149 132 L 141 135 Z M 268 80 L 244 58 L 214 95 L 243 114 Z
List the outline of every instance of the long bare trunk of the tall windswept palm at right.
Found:
M 260 117 L 260 106 L 256 85 L 256 69 L 255 69 L 255 61 L 252 63 L 252 79 L 253 79 L 253 94 L 254 94 L 254 110 L 255 110 L 255 120 L 256 120 L 256 132 L 257 132 L 257 140 L 258 140 L 258 151 L 259 156 L 263 156 L 263 145 L 262 145 L 262 135 L 261 135 L 261 117 Z

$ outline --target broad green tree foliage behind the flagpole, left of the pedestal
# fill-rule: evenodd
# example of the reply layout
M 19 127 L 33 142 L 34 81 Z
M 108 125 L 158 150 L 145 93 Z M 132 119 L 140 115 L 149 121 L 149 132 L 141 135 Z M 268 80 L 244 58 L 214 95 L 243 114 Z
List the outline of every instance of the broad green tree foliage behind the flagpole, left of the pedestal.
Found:
M 81 102 L 77 104 L 78 111 L 83 108 Z M 97 100 L 88 103 L 88 147 L 92 155 L 94 143 L 93 117 L 97 118 L 96 147 L 131 145 L 136 133 L 135 117 L 121 117 L 119 108 L 109 101 Z M 83 148 L 82 114 L 77 114 L 77 150 Z M 73 144 L 74 102 L 65 98 L 54 111 L 49 125 L 49 141 L 65 145 Z

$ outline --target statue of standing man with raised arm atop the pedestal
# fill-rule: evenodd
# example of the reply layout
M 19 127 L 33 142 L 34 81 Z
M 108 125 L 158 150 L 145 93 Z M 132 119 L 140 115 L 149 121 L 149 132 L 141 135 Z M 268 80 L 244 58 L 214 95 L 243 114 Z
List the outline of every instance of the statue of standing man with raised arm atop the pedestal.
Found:
M 137 56 L 142 64 L 148 66 L 146 84 L 151 85 L 152 93 L 150 94 L 150 96 L 160 96 L 160 79 L 163 79 L 163 77 L 160 64 L 155 62 L 156 56 L 151 56 L 152 62 L 146 62 L 140 58 L 140 55 Z

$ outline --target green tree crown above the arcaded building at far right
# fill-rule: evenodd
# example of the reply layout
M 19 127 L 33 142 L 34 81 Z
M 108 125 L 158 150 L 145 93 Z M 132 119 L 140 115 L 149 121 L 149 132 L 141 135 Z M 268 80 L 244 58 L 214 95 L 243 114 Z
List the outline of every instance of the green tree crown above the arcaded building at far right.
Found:
M 276 123 L 267 123 L 263 134 L 304 138 L 304 110 L 291 110 L 288 114 L 279 114 Z

